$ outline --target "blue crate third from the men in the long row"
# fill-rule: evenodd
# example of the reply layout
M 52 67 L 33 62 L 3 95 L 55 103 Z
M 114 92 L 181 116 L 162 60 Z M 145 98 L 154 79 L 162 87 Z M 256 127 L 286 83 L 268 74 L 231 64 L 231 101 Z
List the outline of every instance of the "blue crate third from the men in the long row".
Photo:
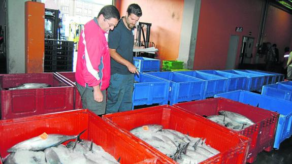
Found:
M 227 91 L 228 79 L 198 71 L 178 71 L 176 73 L 196 77 L 206 81 L 205 97 L 213 97 L 215 94 Z

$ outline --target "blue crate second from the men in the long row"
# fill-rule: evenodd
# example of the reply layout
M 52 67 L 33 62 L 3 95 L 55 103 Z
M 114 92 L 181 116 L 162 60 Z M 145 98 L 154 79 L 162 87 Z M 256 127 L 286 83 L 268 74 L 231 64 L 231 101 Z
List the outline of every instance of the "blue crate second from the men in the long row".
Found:
M 206 86 L 204 80 L 175 72 L 148 72 L 146 74 L 170 81 L 168 99 L 170 105 L 204 99 L 204 90 Z

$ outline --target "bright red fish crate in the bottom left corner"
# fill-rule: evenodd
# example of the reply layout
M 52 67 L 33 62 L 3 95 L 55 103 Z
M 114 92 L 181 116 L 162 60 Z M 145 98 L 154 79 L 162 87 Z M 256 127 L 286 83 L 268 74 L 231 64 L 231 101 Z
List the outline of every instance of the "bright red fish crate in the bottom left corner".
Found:
M 84 129 L 81 139 L 92 140 L 121 163 L 156 163 L 155 154 L 84 109 L 0 121 L 0 154 L 5 157 L 13 145 L 44 132 L 77 135 Z

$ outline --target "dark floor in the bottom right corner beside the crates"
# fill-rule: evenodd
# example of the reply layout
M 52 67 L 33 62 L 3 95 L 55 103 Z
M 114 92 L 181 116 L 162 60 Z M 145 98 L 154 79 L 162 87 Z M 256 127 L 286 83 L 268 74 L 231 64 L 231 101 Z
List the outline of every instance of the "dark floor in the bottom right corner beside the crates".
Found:
M 278 150 L 259 153 L 253 164 L 262 163 L 292 164 L 292 137 L 283 141 Z

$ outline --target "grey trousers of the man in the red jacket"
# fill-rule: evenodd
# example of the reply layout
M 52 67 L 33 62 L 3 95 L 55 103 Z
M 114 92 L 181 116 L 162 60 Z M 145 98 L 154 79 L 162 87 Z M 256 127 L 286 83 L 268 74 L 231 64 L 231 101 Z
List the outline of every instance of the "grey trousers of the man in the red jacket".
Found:
M 84 109 L 89 109 L 97 115 L 105 114 L 106 111 L 106 90 L 102 90 L 104 99 L 103 102 L 99 103 L 94 100 L 93 97 L 93 88 L 84 87 L 76 82 L 77 89 L 81 95 L 82 107 Z

